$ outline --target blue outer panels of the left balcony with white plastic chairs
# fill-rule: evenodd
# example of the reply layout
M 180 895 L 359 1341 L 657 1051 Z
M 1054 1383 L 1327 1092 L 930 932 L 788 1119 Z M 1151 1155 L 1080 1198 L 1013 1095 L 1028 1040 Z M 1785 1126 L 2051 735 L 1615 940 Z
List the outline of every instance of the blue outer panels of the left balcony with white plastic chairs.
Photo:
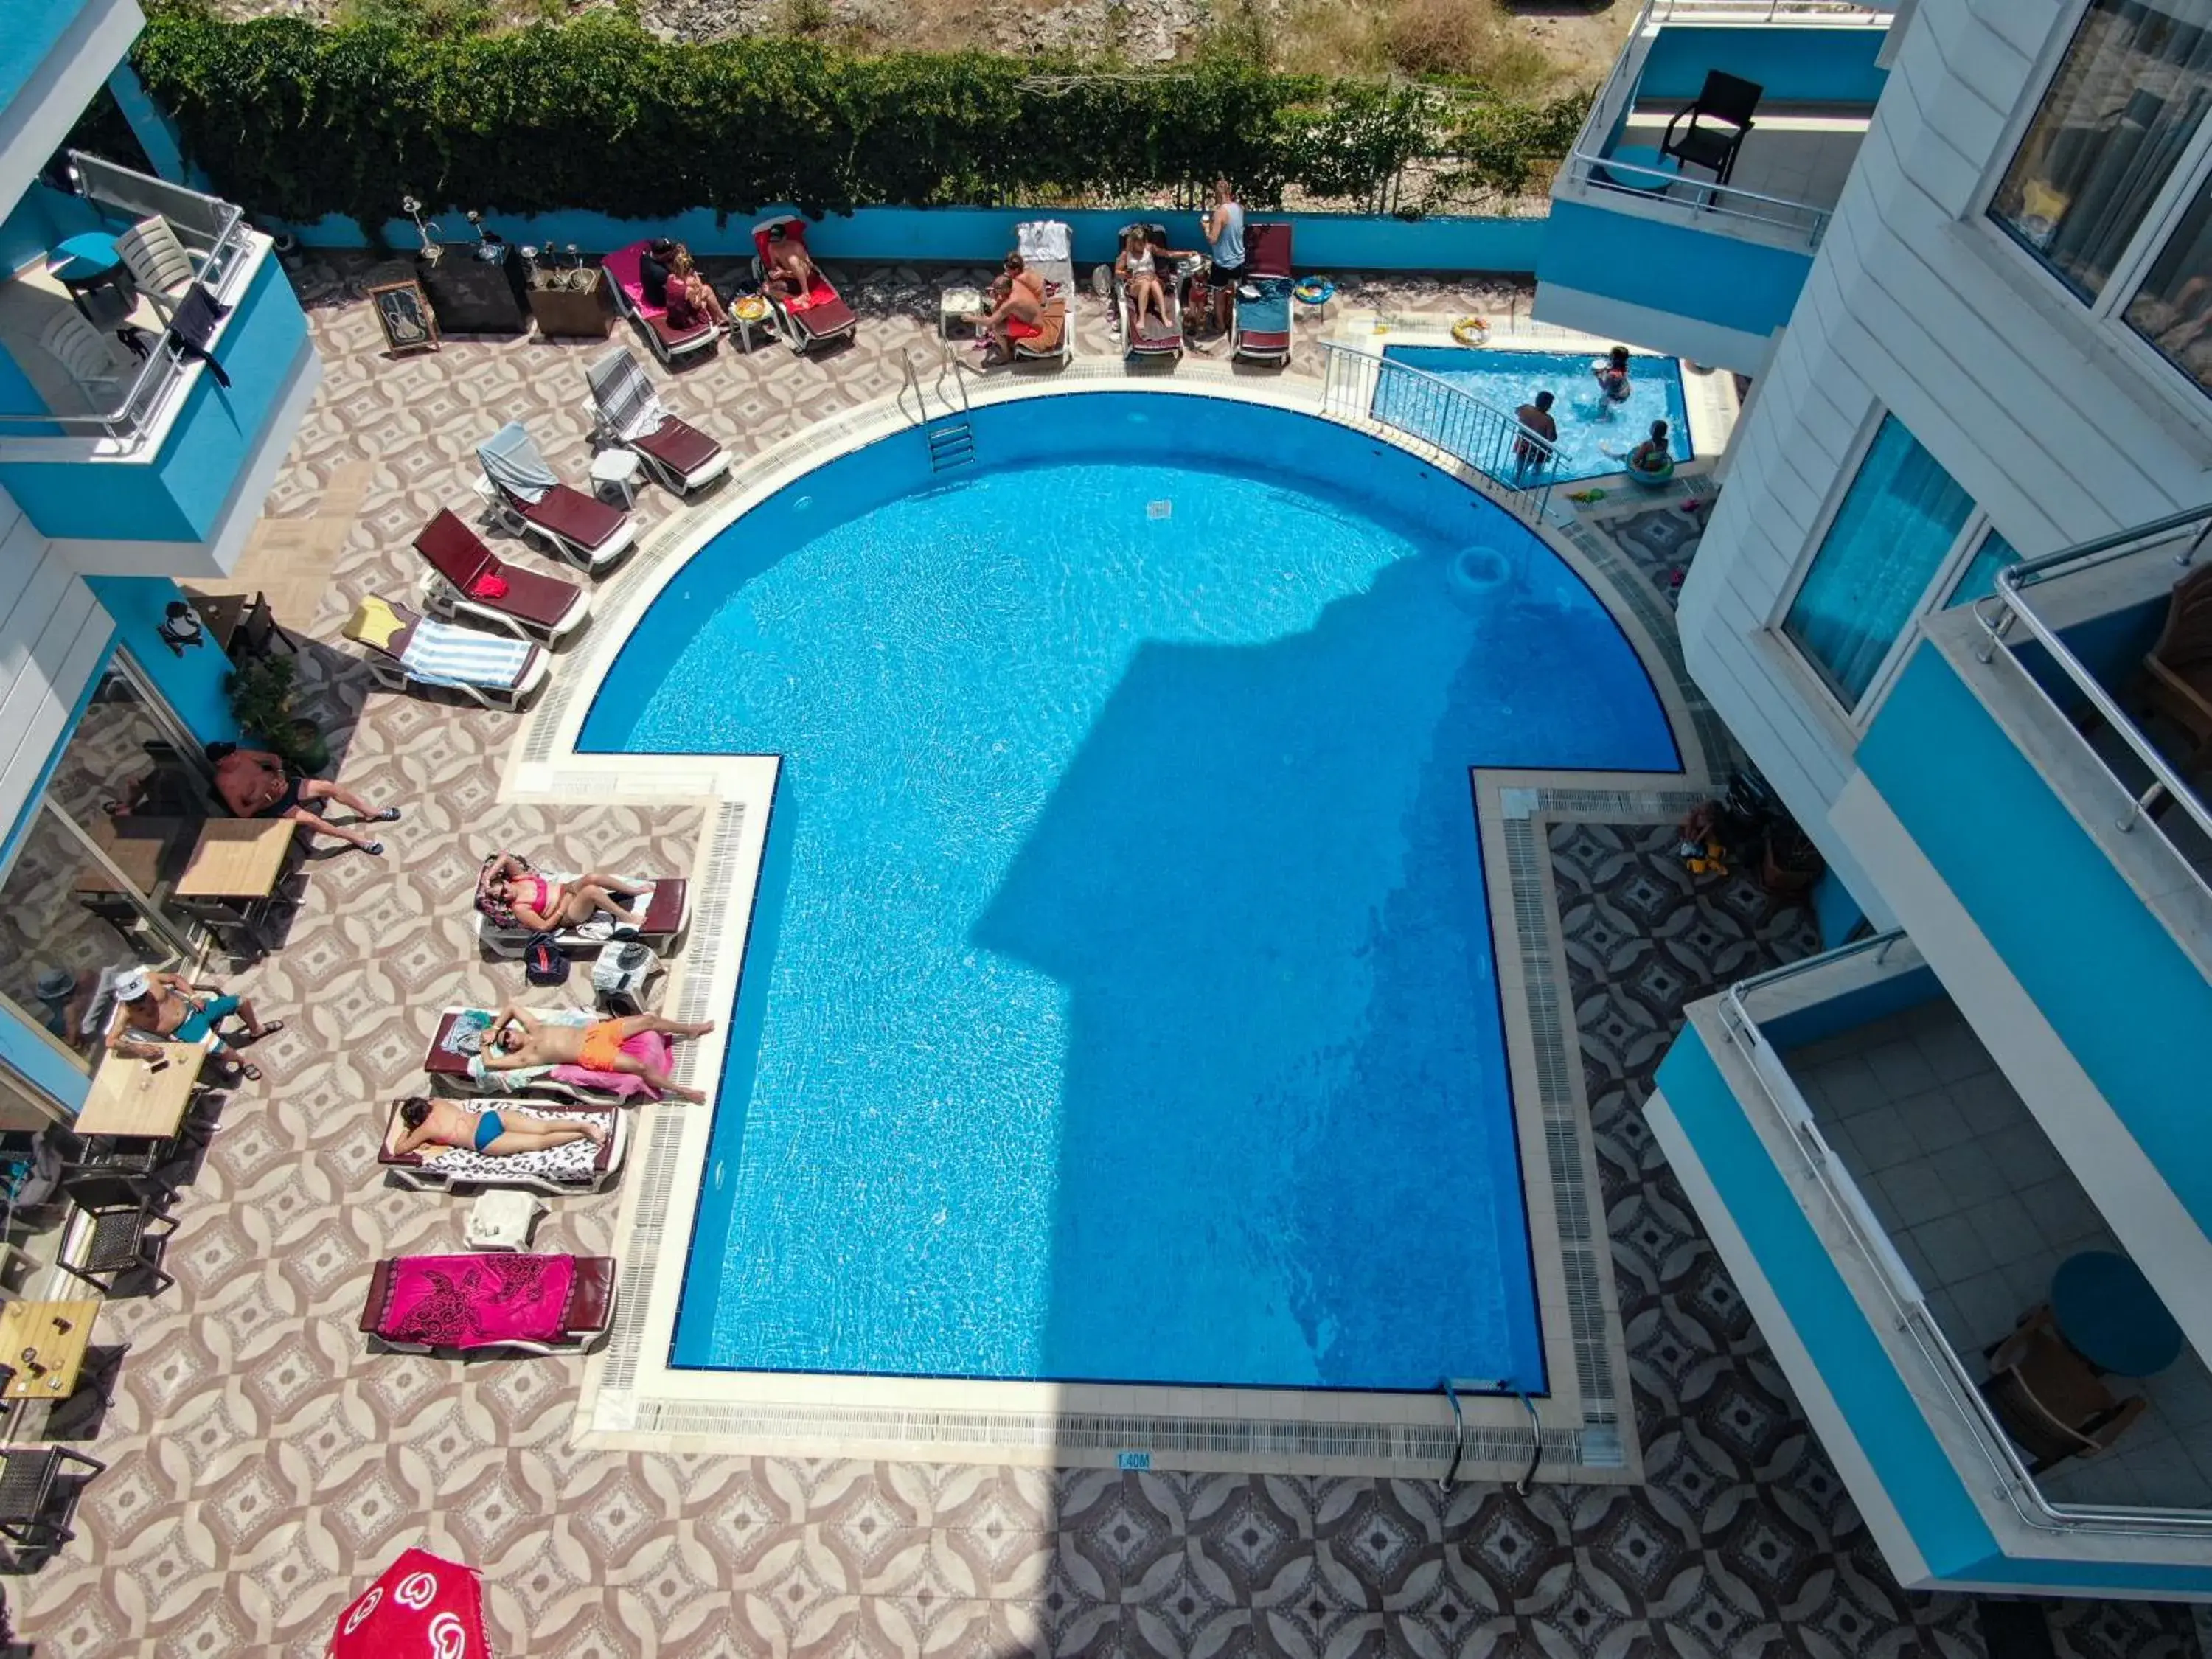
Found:
M 201 374 L 159 456 L 146 462 L 4 462 L 0 484 L 53 538 L 201 542 L 215 531 L 305 349 L 307 319 L 292 283 L 274 259 L 263 259 L 215 347 L 230 387 Z

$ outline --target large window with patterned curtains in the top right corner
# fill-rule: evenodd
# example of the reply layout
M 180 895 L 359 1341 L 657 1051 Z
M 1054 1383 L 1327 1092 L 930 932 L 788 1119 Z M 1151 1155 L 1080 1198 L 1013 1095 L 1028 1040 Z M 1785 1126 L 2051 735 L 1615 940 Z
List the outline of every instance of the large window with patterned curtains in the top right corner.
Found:
M 2090 0 L 1989 215 L 2212 392 L 2212 0 Z

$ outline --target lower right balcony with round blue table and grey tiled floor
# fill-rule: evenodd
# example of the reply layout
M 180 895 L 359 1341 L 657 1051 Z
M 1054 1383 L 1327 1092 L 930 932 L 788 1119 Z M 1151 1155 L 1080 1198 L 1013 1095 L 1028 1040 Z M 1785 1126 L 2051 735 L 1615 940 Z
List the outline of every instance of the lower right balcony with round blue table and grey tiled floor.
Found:
M 2212 1250 L 2137 1256 L 2179 1356 L 2095 1376 L 2141 1405 L 2039 1467 L 1984 1352 L 2062 1263 L 2126 1245 L 1929 964 L 1891 933 L 1688 1013 L 1646 1115 L 1898 1579 L 2212 1588 L 2212 1327 L 2168 1294 Z

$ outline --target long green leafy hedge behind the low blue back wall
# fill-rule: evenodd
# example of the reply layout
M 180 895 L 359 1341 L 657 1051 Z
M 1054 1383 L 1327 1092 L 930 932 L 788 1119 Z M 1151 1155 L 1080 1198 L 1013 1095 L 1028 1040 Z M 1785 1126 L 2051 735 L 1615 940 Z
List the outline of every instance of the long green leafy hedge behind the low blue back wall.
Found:
M 217 190 L 254 215 L 365 228 L 403 195 L 650 219 L 772 201 L 1128 201 L 1217 173 L 1263 206 L 1285 190 L 1378 204 L 1462 131 L 1480 157 L 1438 173 L 1517 190 L 1586 106 L 1234 62 L 1086 75 L 984 53 L 670 44 L 619 13 L 438 40 L 376 20 L 155 9 L 133 64 Z

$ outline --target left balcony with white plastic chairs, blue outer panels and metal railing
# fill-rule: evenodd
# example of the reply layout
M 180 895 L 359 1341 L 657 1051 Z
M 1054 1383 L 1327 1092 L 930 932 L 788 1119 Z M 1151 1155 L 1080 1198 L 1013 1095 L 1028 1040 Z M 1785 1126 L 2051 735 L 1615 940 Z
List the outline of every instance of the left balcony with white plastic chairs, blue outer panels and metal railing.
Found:
M 0 281 L 0 489 L 77 568 L 102 575 L 221 575 L 290 447 L 319 363 L 265 237 L 228 201 L 73 155 L 80 195 L 33 186 L 13 241 L 113 239 L 159 217 L 190 281 L 228 307 L 208 363 L 175 349 L 166 307 L 124 294 L 102 327 L 40 252 Z M 181 292 L 181 290 L 179 290 Z M 128 332 L 137 352 L 126 349 Z

